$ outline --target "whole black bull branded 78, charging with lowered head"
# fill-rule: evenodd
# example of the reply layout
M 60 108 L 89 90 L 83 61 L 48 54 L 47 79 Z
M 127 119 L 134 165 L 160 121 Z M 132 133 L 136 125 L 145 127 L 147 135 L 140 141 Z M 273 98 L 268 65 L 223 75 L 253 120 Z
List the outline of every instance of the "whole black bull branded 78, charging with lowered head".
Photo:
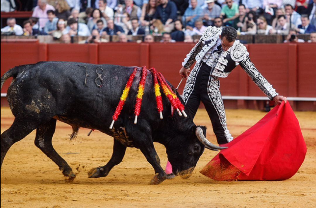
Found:
M 137 124 L 133 123 L 133 113 L 141 70 L 136 73 L 119 119 L 109 129 L 133 69 L 75 62 L 39 62 L 6 72 L 1 77 L 1 88 L 6 79 L 14 78 L 7 97 L 15 119 L 1 134 L 1 166 L 9 148 L 36 129 L 35 145 L 58 165 L 64 176 L 76 177 L 52 146 L 56 120 L 60 120 L 72 126 L 71 138 L 76 136 L 80 127 L 97 129 L 114 138 L 110 161 L 105 166 L 91 169 L 88 172 L 90 178 L 106 176 L 122 161 L 126 147 L 135 147 L 141 150 L 155 170 L 151 184 L 161 183 L 167 175 L 160 166 L 153 142 L 166 147 L 173 173 L 188 178 L 204 147 L 213 150 L 220 147 L 206 140 L 206 128 L 196 126 L 192 118 L 180 117 L 176 113 L 171 116 L 171 105 L 165 96 L 162 96 L 164 110 L 163 119 L 160 119 L 151 73 L 147 75 Z

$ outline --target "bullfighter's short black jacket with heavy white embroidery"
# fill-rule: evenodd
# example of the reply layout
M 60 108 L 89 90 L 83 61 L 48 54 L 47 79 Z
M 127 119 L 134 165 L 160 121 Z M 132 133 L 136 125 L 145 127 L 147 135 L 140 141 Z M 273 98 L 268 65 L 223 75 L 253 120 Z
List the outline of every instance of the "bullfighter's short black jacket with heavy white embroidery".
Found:
M 186 58 L 182 62 L 182 66 L 189 68 L 195 61 L 197 64 L 201 64 L 202 60 L 212 70 L 212 76 L 225 78 L 228 74 L 240 64 L 246 73 L 250 76 L 253 82 L 266 94 L 271 100 L 278 95 L 272 85 L 261 75 L 257 68 L 250 61 L 247 48 L 236 40 L 232 47 L 228 51 L 217 51 L 215 53 L 208 53 L 209 50 L 216 44 L 219 39 L 222 30 L 216 27 L 208 27 L 197 44 L 191 49 L 190 53 L 186 55 Z M 205 55 L 209 57 L 205 58 Z M 206 61 L 205 61 L 206 60 Z M 195 70 L 196 67 L 193 69 Z M 193 72 L 192 70 L 192 72 Z M 193 75 L 194 73 L 191 74 Z M 190 75 L 191 75 L 190 74 Z

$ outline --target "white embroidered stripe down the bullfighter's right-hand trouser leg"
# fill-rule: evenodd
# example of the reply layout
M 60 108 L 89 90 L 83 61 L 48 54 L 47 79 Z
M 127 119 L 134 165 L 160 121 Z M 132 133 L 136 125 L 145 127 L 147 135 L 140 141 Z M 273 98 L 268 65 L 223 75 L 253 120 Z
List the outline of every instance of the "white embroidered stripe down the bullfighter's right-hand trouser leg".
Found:
M 210 76 L 209 83 L 208 83 L 209 98 L 212 104 L 214 105 L 214 108 L 216 109 L 217 115 L 224 129 L 224 135 L 226 137 L 226 140 L 227 142 L 231 142 L 233 140 L 233 137 L 229 133 L 229 130 L 227 129 L 225 109 L 224 109 L 221 91 L 219 88 L 220 88 L 219 79 L 217 77 Z

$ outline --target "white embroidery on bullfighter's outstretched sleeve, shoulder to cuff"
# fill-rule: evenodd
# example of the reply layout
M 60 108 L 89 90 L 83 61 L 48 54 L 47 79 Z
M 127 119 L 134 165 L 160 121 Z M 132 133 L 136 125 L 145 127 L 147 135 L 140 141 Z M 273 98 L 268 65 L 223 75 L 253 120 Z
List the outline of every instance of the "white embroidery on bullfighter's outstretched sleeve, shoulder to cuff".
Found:
M 241 68 L 250 76 L 252 81 L 268 96 L 271 100 L 277 96 L 278 93 L 272 85 L 262 76 L 258 69 L 250 61 L 249 56 L 240 62 Z

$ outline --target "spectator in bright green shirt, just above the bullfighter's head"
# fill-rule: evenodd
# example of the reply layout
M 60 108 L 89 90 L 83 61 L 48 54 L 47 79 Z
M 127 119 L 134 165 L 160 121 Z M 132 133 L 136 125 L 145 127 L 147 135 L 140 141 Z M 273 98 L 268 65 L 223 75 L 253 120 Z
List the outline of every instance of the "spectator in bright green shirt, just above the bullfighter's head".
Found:
M 226 4 L 222 8 L 221 17 L 225 26 L 232 26 L 233 20 L 239 16 L 238 6 L 233 0 L 226 0 Z

